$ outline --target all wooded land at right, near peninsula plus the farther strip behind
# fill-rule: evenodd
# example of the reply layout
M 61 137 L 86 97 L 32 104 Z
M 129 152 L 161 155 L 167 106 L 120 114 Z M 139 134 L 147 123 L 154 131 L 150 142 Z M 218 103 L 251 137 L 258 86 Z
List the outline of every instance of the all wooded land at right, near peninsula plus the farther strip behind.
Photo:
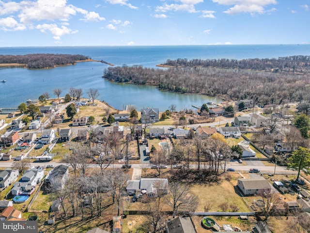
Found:
M 180 93 L 199 93 L 230 100 L 252 99 L 261 105 L 310 100 L 310 56 L 278 59 L 176 59 L 165 69 L 139 65 L 109 67 L 103 78 L 155 85 Z M 298 72 L 297 72 L 298 71 Z

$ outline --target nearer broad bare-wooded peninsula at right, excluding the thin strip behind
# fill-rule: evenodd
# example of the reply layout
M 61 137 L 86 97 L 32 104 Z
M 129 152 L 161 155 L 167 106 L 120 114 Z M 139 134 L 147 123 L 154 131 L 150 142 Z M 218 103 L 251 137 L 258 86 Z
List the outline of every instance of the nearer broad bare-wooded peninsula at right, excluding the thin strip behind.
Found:
M 180 93 L 200 93 L 231 100 L 252 99 L 262 105 L 310 100 L 308 74 L 273 73 L 223 68 L 109 67 L 103 78 L 115 82 L 155 85 Z

